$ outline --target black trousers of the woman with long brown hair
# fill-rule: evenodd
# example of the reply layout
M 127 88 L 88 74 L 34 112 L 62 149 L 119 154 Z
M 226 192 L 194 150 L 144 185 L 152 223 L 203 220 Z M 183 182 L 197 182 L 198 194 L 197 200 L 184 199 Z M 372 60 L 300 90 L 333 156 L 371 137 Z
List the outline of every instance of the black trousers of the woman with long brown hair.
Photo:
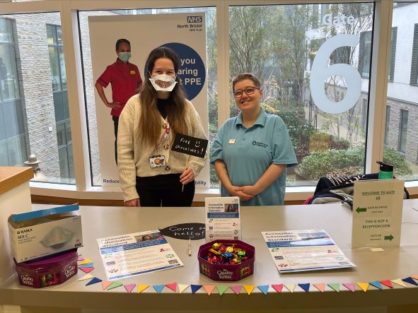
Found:
M 141 206 L 192 206 L 195 180 L 182 190 L 180 174 L 137 177 L 137 192 Z

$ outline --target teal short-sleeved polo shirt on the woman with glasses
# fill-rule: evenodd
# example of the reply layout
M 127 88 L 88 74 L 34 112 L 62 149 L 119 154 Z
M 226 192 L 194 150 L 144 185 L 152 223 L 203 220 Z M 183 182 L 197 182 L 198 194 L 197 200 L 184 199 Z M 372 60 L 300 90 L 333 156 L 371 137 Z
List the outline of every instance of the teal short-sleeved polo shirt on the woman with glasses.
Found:
M 297 165 L 289 132 L 281 117 L 261 108 L 254 125 L 243 124 L 242 113 L 228 119 L 219 129 L 211 149 L 211 163 L 221 159 L 234 186 L 252 186 L 272 164 Z M 286 190 L 286 170 L 269 187 L 243 206 L 281 206 Z M 221 196 L 230 196 L 221 187 Z

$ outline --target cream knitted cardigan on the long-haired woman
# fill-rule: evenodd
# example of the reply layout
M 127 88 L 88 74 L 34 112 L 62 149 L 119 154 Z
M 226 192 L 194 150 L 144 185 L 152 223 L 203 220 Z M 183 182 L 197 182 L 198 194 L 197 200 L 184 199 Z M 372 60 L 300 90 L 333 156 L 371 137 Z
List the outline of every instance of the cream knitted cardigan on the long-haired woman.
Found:
M 120 187 L 124 194 L 124 201 L 139 198 L 136 184 L 137 176 L 149 177 L 155 175 L 181 173 L 186 167 L 191 167 L 195 175 L 199 175 L 200 170 L 206 163 L 205 158 L 197 158 L 192 155 L 171 151 L 173 136 L 156 148 L 156 145 L 145 145 L 141 136 L 135 138 L 138 134 L 139 117 L 141 116 L 141 102 L 139 95 L 134 95 L 128 100 L 122 114 L 120 114 L 119 128 L 117 133 L 117 169 L 119 171 Z M 197 114 L 192 102 L 186 101 L 185 124 L 189 130 L 189 136 L 196 138 L 207 138 L 204 134 L 202 121 Z M 165 119 L 161 117 L 161 136 L 164 135 Z M 171 135 L 171 134 L 170 134 Z M 149 158 L 153 155 L 164 155 L 168 167 L 151 168 Z M 188 158 L 187 158 L 188 157 Z

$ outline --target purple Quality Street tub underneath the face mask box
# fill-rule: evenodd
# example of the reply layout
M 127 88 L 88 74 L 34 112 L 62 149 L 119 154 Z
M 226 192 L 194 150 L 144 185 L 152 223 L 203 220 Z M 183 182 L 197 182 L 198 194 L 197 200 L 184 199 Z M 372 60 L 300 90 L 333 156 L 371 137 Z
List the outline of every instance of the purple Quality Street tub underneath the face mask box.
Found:
M 21 285 L 42 288 L 59 285 L 76 275 L 77 259 L 77 250 L 74 249 L 34 261 L 17 263 L 16 260 L 13 260 Z

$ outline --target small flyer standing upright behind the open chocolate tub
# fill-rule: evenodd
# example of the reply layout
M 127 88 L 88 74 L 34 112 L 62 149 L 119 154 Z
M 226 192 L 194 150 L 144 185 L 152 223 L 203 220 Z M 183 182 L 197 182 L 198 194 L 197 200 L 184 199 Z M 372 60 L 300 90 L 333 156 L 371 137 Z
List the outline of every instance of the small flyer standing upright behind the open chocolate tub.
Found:
M 204 199 L 206 242 L 241 240 L 240 199 L 223 196 Z

